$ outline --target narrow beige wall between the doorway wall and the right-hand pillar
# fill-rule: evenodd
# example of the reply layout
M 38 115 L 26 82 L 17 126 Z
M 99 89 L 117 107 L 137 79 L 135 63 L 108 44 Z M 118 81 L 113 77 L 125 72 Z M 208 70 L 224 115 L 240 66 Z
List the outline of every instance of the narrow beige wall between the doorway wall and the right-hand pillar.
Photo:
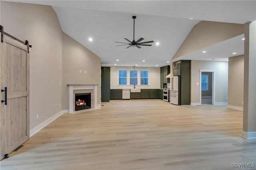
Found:
M 228 59 L 228 105 L 243 107 L 244 55 Z

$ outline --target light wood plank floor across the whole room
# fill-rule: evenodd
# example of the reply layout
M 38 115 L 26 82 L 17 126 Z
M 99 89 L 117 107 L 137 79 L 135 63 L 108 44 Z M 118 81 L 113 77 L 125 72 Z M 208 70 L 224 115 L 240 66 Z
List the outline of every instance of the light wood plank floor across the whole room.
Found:
M 241 131 L 242 111 L 226 106 L 114 100 L 60 116 L 0 169 L 234 170 L 231 163 L 256 160 L 256 140 L 241 138 Z

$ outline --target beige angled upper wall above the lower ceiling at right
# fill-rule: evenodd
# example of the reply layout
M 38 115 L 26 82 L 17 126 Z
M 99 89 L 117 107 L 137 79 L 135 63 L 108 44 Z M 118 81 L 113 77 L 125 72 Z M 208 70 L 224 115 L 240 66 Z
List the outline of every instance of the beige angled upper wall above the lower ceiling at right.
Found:
M 220 43 L 243 33 L 243 24 L 201 21 L 191 29 L 172 59 Z

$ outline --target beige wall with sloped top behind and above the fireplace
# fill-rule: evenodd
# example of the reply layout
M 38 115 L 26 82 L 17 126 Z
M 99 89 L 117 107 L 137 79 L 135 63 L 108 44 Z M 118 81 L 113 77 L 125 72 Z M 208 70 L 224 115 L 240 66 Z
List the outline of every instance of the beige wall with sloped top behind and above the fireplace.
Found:
M 67 84 L 100 84 L 100 57 L 86 47 L 62 34 L 62 109 L 68 109 Z M 79 71 L 82 70 L 82 73 Z M 84 71 L 87 73 L 85 74 Z M 100 104 L 100 86 L 98 86 Z

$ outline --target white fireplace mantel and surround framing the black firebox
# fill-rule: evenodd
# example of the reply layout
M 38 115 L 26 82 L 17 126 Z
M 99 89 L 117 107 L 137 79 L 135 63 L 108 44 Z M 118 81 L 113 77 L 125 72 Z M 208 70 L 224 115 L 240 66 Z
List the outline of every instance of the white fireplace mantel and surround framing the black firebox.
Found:
M 68 101 L 69 101 L 69 107 L 68 111 L 69 113 L 74 112 L 73 109 L 73 91 L 74 90 L 85 90 L 85 89 L 92 89 L 94 93 L 94 108 L 97 108 L 97 86 L 98 84 L 67 84 L 68 86 Z

